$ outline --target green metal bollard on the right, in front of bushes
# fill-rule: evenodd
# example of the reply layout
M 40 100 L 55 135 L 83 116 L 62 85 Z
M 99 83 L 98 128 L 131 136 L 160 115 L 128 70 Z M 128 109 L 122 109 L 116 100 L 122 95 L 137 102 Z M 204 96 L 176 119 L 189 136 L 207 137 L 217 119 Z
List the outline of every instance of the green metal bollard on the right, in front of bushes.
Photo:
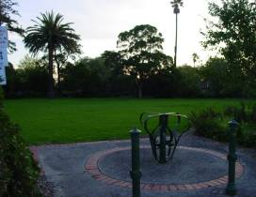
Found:
M 235 146 L 236 146 L 236 130 L 239 124 L 232 120 L 229 122 L 230 130 L 229 130 L 229 182 L 226 187 L 226 194 L 234 196 L 236 194 L 236 186 L 235 186 L 235 161 L 237 156 L 235 154 Z

